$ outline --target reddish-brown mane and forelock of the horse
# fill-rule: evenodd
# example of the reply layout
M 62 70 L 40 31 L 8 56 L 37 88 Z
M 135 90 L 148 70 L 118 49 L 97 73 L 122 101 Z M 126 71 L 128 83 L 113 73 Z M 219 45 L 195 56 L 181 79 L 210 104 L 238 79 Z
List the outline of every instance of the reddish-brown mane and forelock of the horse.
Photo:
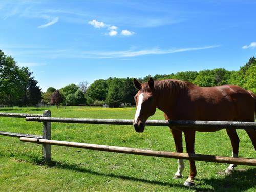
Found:
M 177 92 L 187 91 L 188 84 L 191 84 L 187 81 L 175 80 L 175 79 L 164 79 L 154 81 L 154 92 L 164 93 L 167 92 L 173 94 Z M 151 92 L 148 82 L 145 82 L 141 85 L 142 92 Z

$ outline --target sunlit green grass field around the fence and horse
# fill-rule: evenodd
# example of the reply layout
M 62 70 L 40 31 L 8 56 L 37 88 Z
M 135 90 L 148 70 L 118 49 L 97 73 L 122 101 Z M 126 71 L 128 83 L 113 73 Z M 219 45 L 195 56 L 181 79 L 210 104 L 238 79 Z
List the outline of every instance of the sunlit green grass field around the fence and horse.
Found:
M 133 119 L 135 108 L 2 108 L 0 112 L 42 114 L 53 117 Z M 159 110 L 151 119 L 163 119 Z M 0 131 L 41 135 L 42 123 L 0 117 Z M 238 130 L 239 157 L 256 158 L 244 130 Z M 175 151 L 168 127 L 146 127 L 136 133 L 132 126 L 52 123 L 52 139 L 83 143 Z M 184 139 L 183 139 L 184 140 Z M 184 143 L 184 142 L 183 142 Z M 231 155 L 230 140 L 221 130 L 196 133 L 196 153 Z M 174 180 L 177 160 L 52 146 L 50 166 L 41 165 L 42 146 L 0 136 L 0 191 L 256 191 L 256 168 L 239 165 L 223 174 L 227 164 L 196 162 L 196 187 L 183 186 L 189 175 Z M 184 146 L 185 151 L 185 146 Z

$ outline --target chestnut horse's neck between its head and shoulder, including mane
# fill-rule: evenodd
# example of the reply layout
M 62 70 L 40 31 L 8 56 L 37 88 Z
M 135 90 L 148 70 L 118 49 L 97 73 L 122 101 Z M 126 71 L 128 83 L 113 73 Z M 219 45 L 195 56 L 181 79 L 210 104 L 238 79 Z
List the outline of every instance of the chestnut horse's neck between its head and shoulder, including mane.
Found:
M 165 114 L 170 114 L 177 100 L 185 94 L 187 86 L 185 82 L 170 80 L 164 83 L 164 86 L 156 86 L 154 97 L 156 98 L 156 107 Z

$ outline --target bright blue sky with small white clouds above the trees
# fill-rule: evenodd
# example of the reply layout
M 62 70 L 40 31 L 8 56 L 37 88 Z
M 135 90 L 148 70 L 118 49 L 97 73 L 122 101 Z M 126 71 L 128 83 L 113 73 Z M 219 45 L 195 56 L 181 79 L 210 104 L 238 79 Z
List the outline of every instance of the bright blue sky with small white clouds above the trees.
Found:
M 0 1 L 0 49 L 39 86 L 225 68 L 256 56 L 256 1 Z

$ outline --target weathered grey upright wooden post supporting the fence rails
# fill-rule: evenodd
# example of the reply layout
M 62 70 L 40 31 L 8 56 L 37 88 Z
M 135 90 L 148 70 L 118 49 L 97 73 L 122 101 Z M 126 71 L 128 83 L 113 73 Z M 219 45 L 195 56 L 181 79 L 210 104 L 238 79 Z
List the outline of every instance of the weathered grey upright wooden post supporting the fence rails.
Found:
M 43 117 L 51 117 L 51 111 L 44 111 Z M 51 122 L 44 122 L 42 125 L 42 138 L 51 139 Z M 43 144 L 42 145 L 42 158 L 46 164 L 51 162 L 51 145 Z

